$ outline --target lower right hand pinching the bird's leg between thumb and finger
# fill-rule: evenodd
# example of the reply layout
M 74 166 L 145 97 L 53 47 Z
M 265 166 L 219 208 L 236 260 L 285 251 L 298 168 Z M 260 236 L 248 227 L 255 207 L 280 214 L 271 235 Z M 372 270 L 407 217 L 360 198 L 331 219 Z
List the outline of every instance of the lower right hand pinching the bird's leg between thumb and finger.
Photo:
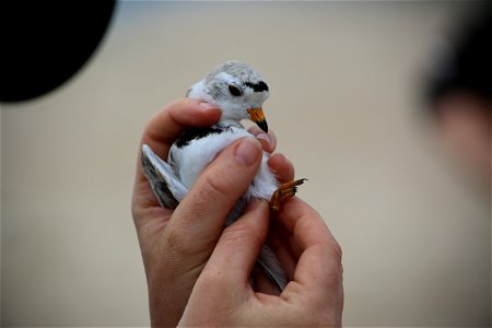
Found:
M 323 219 L 298 198 L 283 204 L 277 221 L 294 260 L 292 280 L 280 295 L 251 288 L 249 274 L 269 221 L 267 202 L 257 201 L 224 230 L 178 326 L 341 326 L 341 249 Z M 285 265 L 285 256 L 280 260 Z

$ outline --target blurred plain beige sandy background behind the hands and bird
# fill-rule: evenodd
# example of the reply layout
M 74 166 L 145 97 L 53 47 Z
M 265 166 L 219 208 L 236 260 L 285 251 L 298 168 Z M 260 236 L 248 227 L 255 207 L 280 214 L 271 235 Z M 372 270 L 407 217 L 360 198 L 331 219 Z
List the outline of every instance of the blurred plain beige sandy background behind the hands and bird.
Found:
M 490 194 L 419 115 L 459 2 L 119 2 L 62 87 L 1 108 L 3 326 L 147 326 L 145 121 L 214 65 L 268 81 L 278 150 L 343 248 L 345 326 L 490 326 Z

